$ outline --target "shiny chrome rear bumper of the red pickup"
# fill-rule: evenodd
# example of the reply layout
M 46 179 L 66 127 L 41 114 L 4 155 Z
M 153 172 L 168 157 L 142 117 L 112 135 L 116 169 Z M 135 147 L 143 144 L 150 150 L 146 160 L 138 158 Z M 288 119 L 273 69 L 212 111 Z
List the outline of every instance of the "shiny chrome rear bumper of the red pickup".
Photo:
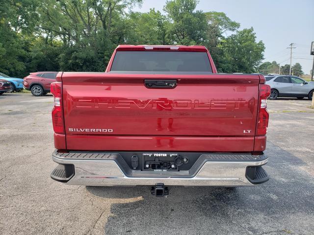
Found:
M 73 175 L 71 175 L 69 180 L 64 181 L 65 184 L 85 186 L 151 186 L 158 183 L 163 183 L 167 186 L 254 186 L 255 184 L 252 184 L 247 178 L 247 167 L 261 166 L 268 161 L 268 158 L 265 157 L 255 159 L 255 161 L 233 161 L 233 159 L 230 159 L 230 161 L 205 160 L 199 165 L 193 175 L 184 175 L 184 173 L 171 175 L 169 172 L 140 170 L 137 171 L 138 173 L 128 175 L 121 164 L 110 157 L 111 154 L 108 154 L 109 157 L 98 159 L 97 157 L 75 157 L 76 155 L 67 157 L 67 154 L 61 155 L 62 157 L 55 151 L 52 154 L 52 160 L 61 165 L 72 164 L 74 167 Z M 55 179 L 54 177 L 52 178 Z M 263 182 L 267 180 L 268 178 Z

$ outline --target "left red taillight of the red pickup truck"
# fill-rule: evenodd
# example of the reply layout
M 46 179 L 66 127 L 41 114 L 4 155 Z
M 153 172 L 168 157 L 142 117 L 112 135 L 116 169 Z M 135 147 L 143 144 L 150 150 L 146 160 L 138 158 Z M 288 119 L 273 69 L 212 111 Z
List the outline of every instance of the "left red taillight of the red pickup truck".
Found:
M 52 82 L 50 91 L 53 95 L 52 125 L 56 134 L 64 134 L 62 112 L 62 82 Z

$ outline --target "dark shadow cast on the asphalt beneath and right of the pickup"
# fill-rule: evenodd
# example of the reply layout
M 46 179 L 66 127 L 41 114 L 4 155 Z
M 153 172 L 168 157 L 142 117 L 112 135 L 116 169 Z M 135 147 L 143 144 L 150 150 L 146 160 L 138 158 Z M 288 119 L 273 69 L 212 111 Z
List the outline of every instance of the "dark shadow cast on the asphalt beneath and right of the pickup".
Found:
M 164 198 L 147 186 L 86 189 L 104 199 L 143 198 L 111 204 L 105 234 L 311 234 L 313 177 L 299 169 L 302 160 L 271 142 L 266 154 L 271 179 L 256 187 L 169 187 Z

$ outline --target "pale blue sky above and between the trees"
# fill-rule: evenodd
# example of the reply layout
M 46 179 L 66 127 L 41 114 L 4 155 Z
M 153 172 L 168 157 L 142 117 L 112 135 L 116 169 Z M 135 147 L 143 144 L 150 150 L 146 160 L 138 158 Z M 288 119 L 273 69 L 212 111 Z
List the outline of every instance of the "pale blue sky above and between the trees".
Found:
M 143 0 L 142 7 L 133 10 L 148 12 L 150 8 L 155 8 L 163 12 L 165 2 Z M 266 47 L 264 61 L 289 64 L 290 50 L 286 47 L 295 43 L 297 48 L 292 50 L 292 64 L 298 62 L 305 73 L 310 73 L 314 0 L 200 0 L 197 9 L 225 12 L 231 20 L 241 24 L 241 29 L 253 27 L 257 40 L 262 40 Z

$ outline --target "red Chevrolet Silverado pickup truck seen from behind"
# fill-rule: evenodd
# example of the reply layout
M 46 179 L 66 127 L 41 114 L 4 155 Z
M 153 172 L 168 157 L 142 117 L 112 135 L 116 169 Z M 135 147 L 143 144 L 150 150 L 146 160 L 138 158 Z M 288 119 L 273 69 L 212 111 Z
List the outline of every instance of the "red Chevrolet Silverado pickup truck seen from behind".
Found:
M 269 177 L 270 87 L 218 74 L 202 46 L 118 46 L 105 72 L 59 72 L 51 177 L 69 185 L 254 186 Z

